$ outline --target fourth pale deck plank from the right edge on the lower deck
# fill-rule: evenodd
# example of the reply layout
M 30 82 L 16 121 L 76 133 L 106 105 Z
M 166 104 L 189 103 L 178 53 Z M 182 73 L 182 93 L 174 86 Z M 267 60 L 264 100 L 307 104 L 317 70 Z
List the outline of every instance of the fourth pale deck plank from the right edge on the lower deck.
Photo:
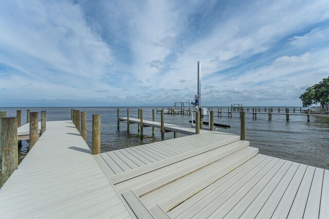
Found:
M 295 176 L 291 179 L 289 186 L 287 187 L 287 189 L 284 191 L 284 194 L 282 195 L 282 197 L 279 200 L 279 203 L 274 210 L 274 213 L 272 214 L 271 218 L 286 218 L 288 216 L 289 210 L 291 205 L 294 202 L 296 193 L 298 191 L 298 188 L 301 184 L 301 181 L 303 179 L 303 176 L 305 175 L 307 169 L 307 165 L 300 165 Z M 273 207 L 272 207 L 273 208 Z M 262 213 L 263 214 L 263 213 Z M 262 214 L 260 213 L 260 217 L 258 218 L 264 218 L 262 217 Z M 267 216 L 266 212 L 265 215 Z

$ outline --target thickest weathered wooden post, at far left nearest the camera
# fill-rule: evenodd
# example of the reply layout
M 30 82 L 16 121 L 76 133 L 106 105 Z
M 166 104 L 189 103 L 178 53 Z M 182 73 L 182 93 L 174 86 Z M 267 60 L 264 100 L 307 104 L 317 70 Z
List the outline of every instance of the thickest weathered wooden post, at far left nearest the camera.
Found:
M 17 148 L 17 118 L 1 118 L 1 154 L 2 154 L 2 185 L 17 170 L 19 155 Z

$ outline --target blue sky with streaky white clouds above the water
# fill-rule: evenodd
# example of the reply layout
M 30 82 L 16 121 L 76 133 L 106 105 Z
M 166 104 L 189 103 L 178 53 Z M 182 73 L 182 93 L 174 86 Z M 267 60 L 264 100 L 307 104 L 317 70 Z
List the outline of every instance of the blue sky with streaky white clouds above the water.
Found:
M 329 76 L 329 3 L 15 1 L 0 6 L 0 106 L 300 106 Z

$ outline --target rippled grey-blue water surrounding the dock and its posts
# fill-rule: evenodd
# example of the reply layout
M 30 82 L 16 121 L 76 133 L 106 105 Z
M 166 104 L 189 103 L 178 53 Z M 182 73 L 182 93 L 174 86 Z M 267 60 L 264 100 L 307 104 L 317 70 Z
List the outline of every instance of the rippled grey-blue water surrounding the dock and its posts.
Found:
M 137 118 L 137 109 L 143 109 L 144 120 L 152 120 L 152 108 L 155 107 L 130 107 L 130 117 Z M 277 107 L 273 107 L 277 108 Z M 7 117 L 16 116 L 16 109 L 22 109 L 22 124 L 26 123 L 27 108 L 0 108 L 7 111 Z M 47 111 L 47 121 L 70 120 L 69 107 L 30 108 L 31 112 Z M 129 148 L 132 146 L 151 143 L 160 139 L 160 132 L 156 129 L 155 138 L 152 137 L 152 128 L 144 128 L 145 137 L 141 140 L 137 135 L 137 124 L 131 124 L 130 133 L 126 132 L 126 123 L 120 122 L 120 130 L 117 130 L 117 107 L 76 107 L 87 113 L 87 143 L 90 147 L 92 139 L 92 115 L 101 114 L 101 152 Z M 227 110 L 227 107 L 223 107 Z M 284 112 L 281 108 L 281 113 Z M 214 108 L 216 111 L 217 108 Z M 290 108 L 290 113 L 292 108 Z M 120 107 L 122 117 L 126 116 L 126 107 Z M 232 118 L 223 113 L 217 117 L 215 123 L 231 126 L 231 129 L 221 129 L 222 132 L 240 134 L 239 114 L 233 114 Z M 166 115 L 165 122 L 190 126 L 188 115 Z M 156 121 L 160 121 L 160 114 L 156 115 Z M 208 121 L 205 117 L 204 121 Z M 257 115 L 257 120 L 252 119 L 252 114 L 246 114 L 246 136 L 250 146 L 259 148 L 262 154 L 297 161 L 329 169 L 329 117 L 311 116 L 310 122 L 306 116 L 292 116 L 287 122 L 285 115 L 272 115 L 272 121 L 268 121 L 268 115 Z M 178 137 L 184 136 L 177 134 Z M 173 138 L 173 133 L 166 133 L 166 139 Z M 20 161 L 28 152 L 28 141 L 22 141 L 20 149 Z

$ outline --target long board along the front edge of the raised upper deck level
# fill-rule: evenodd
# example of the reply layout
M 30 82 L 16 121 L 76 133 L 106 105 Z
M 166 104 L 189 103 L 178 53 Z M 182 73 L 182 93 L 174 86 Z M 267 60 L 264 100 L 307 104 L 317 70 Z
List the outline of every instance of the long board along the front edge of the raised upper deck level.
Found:
M 165 160 L 155 162 L 152 165 L 148 165 L 147 168 L 137 168 L 137 169 L 134 169 L 134 170 L 131 170 L 131 171 L 124 172 L 122 174 L 113 176 L 110 179 L 111 179 L 113 184 L 118 184 L 119 182 L 125 181 L 127 179 L 131 179 L 131 178 L 134 178 L 134 177 L 139 176 L 141 174 L 145 174 L 145 173 L 157 170 L 159 168 L 166 167 L 168 165 L 171 165 L 172 163 L 178 162 L 180 160 L 187 159 L 189 157 L 198 155 L 200 153 L 205 153 L 207 151 L 222 147 L 223 145 L 231 143 L 231 142 L 232 142 L 232 139 L 228 139 L 228 140 L 222 141 L 220 143 L 210 145 L 209 147 L 200 148 L 200 149 L 197 149 L 197 150 L 194 150 L 194 151 L 190 151 L 190 152 L 181 154 L 179 156 L 174 156 L 174 157 L 171 157 L 171 158 L 168 158 L 168 159 L 165 159 Z M 249 145 L 248 141 L 246 141 L 246 143 Z

